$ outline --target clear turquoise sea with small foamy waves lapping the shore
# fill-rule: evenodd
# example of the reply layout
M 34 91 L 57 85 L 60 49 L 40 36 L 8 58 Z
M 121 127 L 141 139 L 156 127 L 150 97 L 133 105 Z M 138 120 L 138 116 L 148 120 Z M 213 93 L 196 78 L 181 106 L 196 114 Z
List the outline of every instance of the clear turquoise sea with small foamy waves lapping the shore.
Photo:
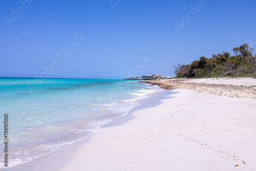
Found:
M 9 116 L 8 166 L 85 139 L 158 91 L 132 80 L 0 78 L 2 121 Z M 4 153 L 0 157 L 3 166 Z

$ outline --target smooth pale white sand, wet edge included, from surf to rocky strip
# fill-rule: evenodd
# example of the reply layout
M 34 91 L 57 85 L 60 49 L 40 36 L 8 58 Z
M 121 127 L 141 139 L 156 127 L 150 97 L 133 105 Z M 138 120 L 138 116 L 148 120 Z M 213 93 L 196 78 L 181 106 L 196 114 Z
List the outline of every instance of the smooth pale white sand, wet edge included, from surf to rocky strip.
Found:
M 11 170 L 255 170 L 255 113 L 255 98 L 165 90 L 88 139 Z

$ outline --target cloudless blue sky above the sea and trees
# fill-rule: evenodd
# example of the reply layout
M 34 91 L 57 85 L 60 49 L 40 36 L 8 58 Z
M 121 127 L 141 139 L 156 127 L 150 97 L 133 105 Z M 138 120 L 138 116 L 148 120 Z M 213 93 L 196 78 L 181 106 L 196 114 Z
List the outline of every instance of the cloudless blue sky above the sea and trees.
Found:
M 246 39 L 256 47 L 255 0 L 30 1 L 1 2 L 1 77 L 174 76 L 173 66 Z M 182 14 L 190 21 L 178 32 Z

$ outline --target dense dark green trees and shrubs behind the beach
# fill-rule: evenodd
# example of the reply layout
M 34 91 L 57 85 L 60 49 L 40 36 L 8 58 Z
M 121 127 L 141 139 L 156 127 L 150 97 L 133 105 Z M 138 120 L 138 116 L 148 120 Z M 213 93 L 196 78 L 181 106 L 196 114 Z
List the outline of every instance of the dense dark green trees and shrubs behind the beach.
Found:
M 212 54 L 211 58 L 201 56 L 187 65 L 178 65 L 176 77 L 222 77 L 242 76 L 256 77 L 256 55 L 253 56 L 248 44 L 233 48 L 234 55 L 228 52 Z

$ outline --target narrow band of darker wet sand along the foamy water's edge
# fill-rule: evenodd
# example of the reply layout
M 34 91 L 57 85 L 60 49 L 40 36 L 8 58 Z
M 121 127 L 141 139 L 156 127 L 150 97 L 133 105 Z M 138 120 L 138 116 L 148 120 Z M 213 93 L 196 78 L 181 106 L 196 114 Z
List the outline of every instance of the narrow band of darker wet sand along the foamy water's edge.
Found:
M 159 92 L 155 92 L 153 94 L 149 94 L 149 97 L 142 98 L 137 100 L 141 103 L 141 105 L 135 106 L 129 113 L 126 115 L 119 116 L 117 118 L 112 119 L 110 122 L 102 125 L 100 130 L 91 133 L 87 138 L 75 141 L 71 144 L 65 144 L 58 149 L 55 149 L 51 153 L 42 155 L 38 158 L 34 158 L 29 162 L 20 163 L 10 168 L 0 168 L 0 170 L 58 170 L 61 165 L 68 163 L 70 161 L 70 154 L 74 153 L 78 150 L 80 146 L 86 144 L 90 141 L 90 137 L 99 131 L 103 131 L 104 129 L 112 126 L 118 126 L 125 124 L 127 121 L 134 119 L 132 115 L 133 112 L 137 110 L 142 110 L 149 107 L 154 107 L 161 103 L 162 99 L 168 98 L 167 96 L 170 94 L 169 90 L 162 90 Z M 58 163 L 58 164 L 56 164 Z

